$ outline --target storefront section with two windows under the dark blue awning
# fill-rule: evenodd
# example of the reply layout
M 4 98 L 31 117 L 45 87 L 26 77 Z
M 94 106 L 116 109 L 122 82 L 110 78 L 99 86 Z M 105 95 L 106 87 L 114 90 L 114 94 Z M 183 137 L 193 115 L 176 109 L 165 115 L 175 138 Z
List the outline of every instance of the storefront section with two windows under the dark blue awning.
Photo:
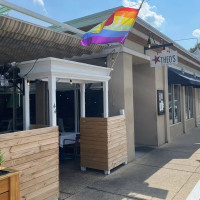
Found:
M 177 67 L 169 67 L 168 74 L 169 119 L 171 137 L 175 137 L 198 126 L 197 93 L 200 78 L 194 72 Z

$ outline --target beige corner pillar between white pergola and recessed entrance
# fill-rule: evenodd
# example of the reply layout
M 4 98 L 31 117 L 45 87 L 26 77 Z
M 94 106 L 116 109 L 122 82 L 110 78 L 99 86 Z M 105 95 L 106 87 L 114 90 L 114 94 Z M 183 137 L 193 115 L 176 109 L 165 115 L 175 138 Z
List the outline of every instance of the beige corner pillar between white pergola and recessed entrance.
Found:
M 108 57 L 108 66 L 112 65 L 111 60 Z M 120 109 L 125 109 L 129 162 L 135 158 L 132 74 L 132 56 L 120 53 L 109 81 L 109 113 L 115 116 L 119 115 Z

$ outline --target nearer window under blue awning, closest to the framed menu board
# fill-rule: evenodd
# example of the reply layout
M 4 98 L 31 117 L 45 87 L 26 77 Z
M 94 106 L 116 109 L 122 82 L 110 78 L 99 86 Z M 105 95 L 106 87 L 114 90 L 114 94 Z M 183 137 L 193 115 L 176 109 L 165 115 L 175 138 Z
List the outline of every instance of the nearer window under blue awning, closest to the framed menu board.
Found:
M 170 124 L 181 122 L 180 85 L 169 85 Z

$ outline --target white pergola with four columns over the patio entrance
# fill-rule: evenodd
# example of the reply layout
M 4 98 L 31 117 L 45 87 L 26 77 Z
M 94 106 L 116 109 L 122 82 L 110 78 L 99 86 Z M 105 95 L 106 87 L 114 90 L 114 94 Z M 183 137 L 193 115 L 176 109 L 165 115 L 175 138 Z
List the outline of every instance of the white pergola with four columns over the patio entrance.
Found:
M 103 108 L 104 117 L 109 115 L 108 110 L 108 81 L 112 69 L 88 65 L 84 63 L 68 61 L 57 58 L 43 58 L 22 62 L 19 65 L 20 76 L 25 80 L 24 94 L 24 129 L 30 127 L 30 105 L 29 92 L 30 88 L 27 81 L 43 80 L 48 81 L 49 89 L 49 120 L 50 126 L 57 125 L 56 117 L 56 82 L 70 82 L 80 84 L 80 107 L 81 117 L 85 117 L 85 84 L 86 83 L 103 83 Z

